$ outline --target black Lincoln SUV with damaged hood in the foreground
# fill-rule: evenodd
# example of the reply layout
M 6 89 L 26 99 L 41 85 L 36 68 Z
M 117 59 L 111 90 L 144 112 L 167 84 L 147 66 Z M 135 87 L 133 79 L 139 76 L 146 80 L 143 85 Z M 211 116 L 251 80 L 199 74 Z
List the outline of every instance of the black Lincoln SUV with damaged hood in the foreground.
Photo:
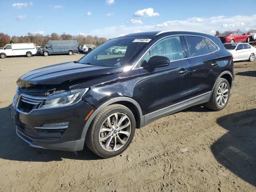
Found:
M 124 51 L 107 54 L 107 50 Z M 190 106 L 222 110 L 234 80 L 232 54 L 210 34 L 168 30 L 118 36 L 80 60 L 32 70 L 10 107 L 33 147 L 98 156 L 122 153 L 135 128 Z

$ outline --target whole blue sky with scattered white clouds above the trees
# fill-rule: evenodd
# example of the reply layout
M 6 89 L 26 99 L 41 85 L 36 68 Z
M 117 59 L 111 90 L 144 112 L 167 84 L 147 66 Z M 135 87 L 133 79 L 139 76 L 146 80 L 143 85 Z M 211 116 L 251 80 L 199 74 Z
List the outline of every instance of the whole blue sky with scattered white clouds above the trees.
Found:
M 152 30 L 215 30 L 256 28 L 256 12 L 246 8 L 252 1 L 172 0 L 1 0 L 0 32 L 26 35 L 97 35 Z

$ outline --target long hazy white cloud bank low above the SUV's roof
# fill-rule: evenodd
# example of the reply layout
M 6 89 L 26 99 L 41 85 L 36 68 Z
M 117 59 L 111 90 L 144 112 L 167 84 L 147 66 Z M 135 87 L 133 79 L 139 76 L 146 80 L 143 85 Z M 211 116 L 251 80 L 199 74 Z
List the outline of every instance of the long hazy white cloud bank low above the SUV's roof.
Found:
M 154 25 L 131 25 L 124 23 L 120 26 L 109 26 L 106 28 L 96 29 L 89 32 L 98 36 L 106 36 L 113 38 L 120 34 L 134 33 L 136 31 L 157 31 L 157 30 L 196 30 L 215 34 L 216 30 L 224 32 L 226 30 L 237 30 L 240 28 L 242 32 L 247 32 L 248 28 L 256 28 L 256 14 L 248 16 L 212 16 L 208 18 L 188 18 L 186 20 L 166 20 Z M 226 27 L 228 25 L 228 27 Z M 225 28 L 226 27 L 226 28 Z

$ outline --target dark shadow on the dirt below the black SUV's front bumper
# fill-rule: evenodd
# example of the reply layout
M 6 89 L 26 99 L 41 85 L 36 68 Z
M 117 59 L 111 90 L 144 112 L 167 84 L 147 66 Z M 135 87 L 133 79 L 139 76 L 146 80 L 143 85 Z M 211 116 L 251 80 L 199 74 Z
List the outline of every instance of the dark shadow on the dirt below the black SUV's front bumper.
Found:
M 62 161 L 62 158 L 74 160 L 101 159 L 86 146 L 84 150 L 74 152 L 33 148 L 16 135 L 14 122 L 10 118 L 9 106 L 0 108 L 0 158 L 15 161 L 50 162 Z

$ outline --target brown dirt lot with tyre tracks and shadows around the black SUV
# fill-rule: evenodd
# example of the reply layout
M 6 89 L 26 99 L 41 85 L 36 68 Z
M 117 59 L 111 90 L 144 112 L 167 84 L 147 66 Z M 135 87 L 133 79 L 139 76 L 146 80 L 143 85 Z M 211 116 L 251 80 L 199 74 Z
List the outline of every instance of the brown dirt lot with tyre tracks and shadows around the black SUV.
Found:
M 101 159 L 30 147 L 8 106 L 25 72 L 72 56 L 0 59 L 0 191 L 256 191 L 256 61 L 235 62 L 235 84 L 219 112 L 195 106 L 135 132 L 120 156 Z

